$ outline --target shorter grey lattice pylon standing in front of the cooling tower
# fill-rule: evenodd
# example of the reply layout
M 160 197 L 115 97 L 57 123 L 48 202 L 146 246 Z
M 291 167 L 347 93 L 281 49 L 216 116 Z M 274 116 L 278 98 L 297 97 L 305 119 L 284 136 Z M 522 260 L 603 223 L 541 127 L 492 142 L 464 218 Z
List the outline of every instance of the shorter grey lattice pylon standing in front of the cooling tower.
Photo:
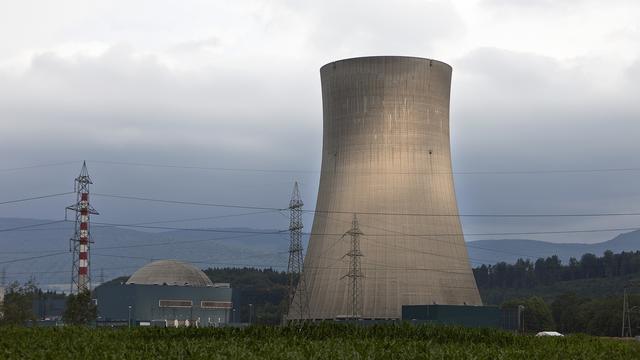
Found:
M 349 298 L 351 299 L 351 318 L 359 319 L 362 317 L 362 266 L 360 258 L 362 252 L 360 251 L 360 225 L 358 224 L 358 217 L 353 214 L 353 220 L 351 221 L 351 229 L 345 233 L 351 238 L 351 248 L 344 256 L 349 257 L 349 272 L 343 276 L 344 279 L 349 278 Z

